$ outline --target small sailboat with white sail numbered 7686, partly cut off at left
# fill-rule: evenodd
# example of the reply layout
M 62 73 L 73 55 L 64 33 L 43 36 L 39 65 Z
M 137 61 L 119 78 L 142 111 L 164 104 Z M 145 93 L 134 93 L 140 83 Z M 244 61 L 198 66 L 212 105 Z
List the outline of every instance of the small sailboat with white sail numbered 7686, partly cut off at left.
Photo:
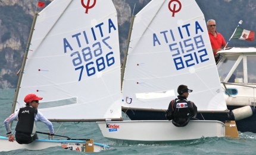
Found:
M 117 11 L 111 0 L 55 0 L 35 15 L 14 96 L 13 111 L 24 96 L 42 96 L 39 110 L 57 122 L 121 119 L 120 50 Z M 1 151 L 100 151 L 92 140 L 36 140 L 10 143 L 0 137 Z

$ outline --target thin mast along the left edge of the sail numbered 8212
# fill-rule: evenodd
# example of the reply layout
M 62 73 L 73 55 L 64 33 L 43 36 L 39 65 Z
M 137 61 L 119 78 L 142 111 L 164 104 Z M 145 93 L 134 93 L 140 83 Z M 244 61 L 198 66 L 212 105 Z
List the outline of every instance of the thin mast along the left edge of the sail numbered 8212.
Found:
M 124 50 L 124 63 L 122 65 L 121 69 L 121 89 L 123 88 L 123 79 L 124 79 L 124 70 L 126 69 L 126 60 L 127 60 L 127 55 L 128 55 L 128 49 L 129 49 L 129 44 L 130 44 L 130 37 L 132 35 L 132 27 L 133 27 L 133 21 L 135 19 L 135 15 L 132 14 L 132 18 L 130 20 L 130 28 L 129 28 L 129 34 L 127 37 L 127 47 L 126 50 Z

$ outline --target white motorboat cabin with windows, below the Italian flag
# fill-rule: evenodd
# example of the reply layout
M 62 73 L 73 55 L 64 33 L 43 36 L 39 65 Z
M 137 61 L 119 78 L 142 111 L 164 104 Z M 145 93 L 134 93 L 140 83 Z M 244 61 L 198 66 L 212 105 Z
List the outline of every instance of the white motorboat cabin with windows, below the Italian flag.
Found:
M 219 51 L 218 75 L 227 105 L 254 105 L 256 96 L 256 48 Z

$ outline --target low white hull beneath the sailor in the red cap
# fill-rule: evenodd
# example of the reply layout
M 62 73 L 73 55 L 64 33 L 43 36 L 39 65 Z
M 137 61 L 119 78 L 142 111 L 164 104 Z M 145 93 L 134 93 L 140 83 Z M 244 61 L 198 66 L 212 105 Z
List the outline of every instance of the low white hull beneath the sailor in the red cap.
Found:
M 18 144 L 10 142 L 7 137 L 0 136 L 0 151 L 12 151 L 18 149 L 42 150 L 49 147 L 60 146 L 68 150 L 85 151 L 85 141 L 82 140 L 36 140 L 30 144 Z M 108 148 L 103 144 L 94 143 L 94 152 Z

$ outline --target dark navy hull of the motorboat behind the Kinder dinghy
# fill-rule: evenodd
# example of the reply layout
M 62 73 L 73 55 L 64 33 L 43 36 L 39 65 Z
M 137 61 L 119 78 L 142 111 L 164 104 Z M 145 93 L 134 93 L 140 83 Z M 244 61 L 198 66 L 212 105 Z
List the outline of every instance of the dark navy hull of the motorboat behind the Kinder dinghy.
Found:
M 241 108 L 242 106 L 227 106 L 227 108 L 232 111 L 236 108 Z M 126 115 L 130 120 L 166 120 L 166 113 L 163 111 L 143 111 L 138 109 L 128 109 L 125 111 Z M 218 113 L 218 112 L 204 112 L 198 113 L 196 116 L 198 120 L 217 120 L 221 122 L 229 121 L 228 113 Z M 256 115 L 245 118 L 243 120 L 236 121 L 238 131 L 240 132 L 251 132 L 256 133 Z

